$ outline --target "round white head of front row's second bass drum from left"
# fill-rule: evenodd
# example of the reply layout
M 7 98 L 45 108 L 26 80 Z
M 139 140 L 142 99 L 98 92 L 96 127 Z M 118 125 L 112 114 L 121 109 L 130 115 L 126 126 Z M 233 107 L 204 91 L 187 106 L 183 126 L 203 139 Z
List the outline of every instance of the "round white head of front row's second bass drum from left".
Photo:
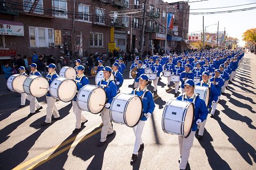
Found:
M 30 76 L 31 78 L 33 76 Z M 31 94 L 35 96 L 36 98 L 40 98 L 48 92 L 49 83 L 48 81 L 43 77 L 37 77 L 34 78 L 34 80 L 31 82 L 29 88 L 31 91 Z

